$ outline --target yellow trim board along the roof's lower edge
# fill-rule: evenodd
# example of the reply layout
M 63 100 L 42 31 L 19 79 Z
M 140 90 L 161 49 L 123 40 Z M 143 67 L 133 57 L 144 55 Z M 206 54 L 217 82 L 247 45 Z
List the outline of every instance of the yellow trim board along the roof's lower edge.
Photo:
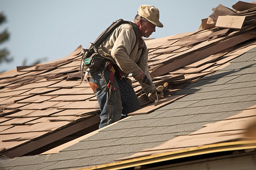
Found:
M 205 146 L 198 146 L 192 148 L 185 148 L 177 151 L 164 152 L 155 155 L 148 155 L 139 158 L 133 158 L 128 160 L 123 160 L 120 162 L 96 165 L 94 167 L 82 168 L 85 169 L 123 169 L 136 167 L 139 165 L 152 164 L 157 162 L 163 162 L 166 160 L 174 160 L 179 158 L 186 158 L 189 156 L 204 155 L 214 152 L 224 152 L 233 150 L 245 150 L 250 148 L 256 148 L 256 140 L 251 141 L 236 141 L 236 142 L 224 142 L 216 143 Z

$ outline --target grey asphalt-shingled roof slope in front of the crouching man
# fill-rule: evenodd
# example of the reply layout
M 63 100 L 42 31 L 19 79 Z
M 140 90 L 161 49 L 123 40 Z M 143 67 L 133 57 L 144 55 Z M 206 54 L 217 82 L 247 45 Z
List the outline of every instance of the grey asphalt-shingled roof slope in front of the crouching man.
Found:
M 58 169 L 111 163 L 145 148 L 159 146 L 171 139 L 178 140 L 189 137 L 193 135 L 194 131 L 200 130 L 202 126 L 208 124 L 207 127 L 209 127 L 210 123 L 224 120 L 245 109 L 253 112 L 243 117 L 255 117 L 255 55 L 256 48 L 249 50 L 228 67 L 180 91 L 181 94 L 187 94 L 189 91 L 192 94 L 153 113 L 131 116 L 118 121 L 91 137 L 60 151 L 59 154 L 9 159 L 2 166 L 9 168 L 18 166 L 24 169 L 40 167 Z M 248 109 L 251 106 L 254 107 Z M 230 117 L 229 120 L 235 123 L 239 121 L 239 118 L 239 116 Z M 243 130 L 243 127 L 232 126 L 232 124 L 228 124 L 226 127 L 228 129 L 225 129 L 224 133 L 230 131 L 231 135 L 220 141 L 234 141 L 234 139 L 241 138 L 233 136 L 232 132 L 237 133 L 237 131 Z M 210 136 L 212 139 L 219 135 L 212 136 L 210 130 L 204 132 L 208 138 Z M 212 141 L 212 143 L 215 142 Z M 198 142 L 190 144 L 192 146 L 201 145 Z M 188 147 L 191 146 L 188 145 Z

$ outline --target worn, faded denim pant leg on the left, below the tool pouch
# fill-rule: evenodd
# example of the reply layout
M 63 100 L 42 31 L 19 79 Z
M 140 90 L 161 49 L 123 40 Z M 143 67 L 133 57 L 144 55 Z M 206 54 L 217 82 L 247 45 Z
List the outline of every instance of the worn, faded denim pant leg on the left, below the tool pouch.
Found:
M 109 99 L 109 88 L 106 84 L 106 82 L 109 82 L 109 70 L 106 69 L 104 75 L 102 75 L 102 70 L 103 68 L 101 68 L 98 72 L 90 71 L 92 78 L 88 79 L 90 83 L 95 83 L 98 86 L 94 93 L 97 95 L 98 105 L 101 109 L 101 122 L 99 128 L 120 120 L 122 113 L 122 100 L 117 84 L 117 79 L 114 77 L 113 86 L 115 87 L 115 90 L 111 91 Z M 102 76 L 104 76 L 106 82 Z

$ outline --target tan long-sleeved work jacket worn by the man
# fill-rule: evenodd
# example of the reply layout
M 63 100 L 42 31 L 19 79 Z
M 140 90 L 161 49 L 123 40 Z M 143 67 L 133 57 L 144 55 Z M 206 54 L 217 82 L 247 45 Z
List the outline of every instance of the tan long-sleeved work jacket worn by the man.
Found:
M 135 42 L 136 35 L 133 27 L 130 24 L 122 24 L 102 43 L 98 48 L 98 53 L 116 63 L 125 77 L 130 73 L 133 73 L 133 75 L 139 74 L 141 68 L 147 77 L 150 78 L 147 68 L 147 46 L 144 40 L 139 45 L 138 40 L 134 48 Z M 152 82 L 151 78 L 150 80 Z M 152 85 L 141 83 L 141 86 L 146 94 L 155 88 L 154 83 Z

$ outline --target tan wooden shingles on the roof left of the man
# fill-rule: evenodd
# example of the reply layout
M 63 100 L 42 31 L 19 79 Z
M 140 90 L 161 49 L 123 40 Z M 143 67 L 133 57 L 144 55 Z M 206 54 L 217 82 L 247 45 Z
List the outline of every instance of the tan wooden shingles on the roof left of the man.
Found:
M 81 49 L 0 74 L 0 154 L 97 114 L 95 95 L 77 80 Z

